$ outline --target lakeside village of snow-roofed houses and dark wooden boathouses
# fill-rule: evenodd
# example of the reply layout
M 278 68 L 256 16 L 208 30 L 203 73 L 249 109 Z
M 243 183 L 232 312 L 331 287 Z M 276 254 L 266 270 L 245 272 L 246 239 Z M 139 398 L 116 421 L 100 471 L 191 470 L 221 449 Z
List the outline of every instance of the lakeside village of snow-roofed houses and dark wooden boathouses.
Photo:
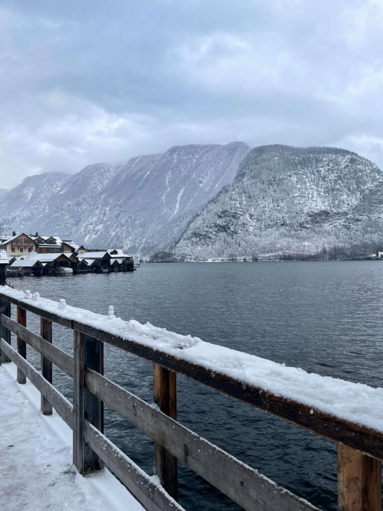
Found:
M 87 249 L 58 236 L 25 233 L 0 238 L 0 257 L 8 259 L 7 276 L 66 275 L 134 271 L 133 258 L 121 249 Z

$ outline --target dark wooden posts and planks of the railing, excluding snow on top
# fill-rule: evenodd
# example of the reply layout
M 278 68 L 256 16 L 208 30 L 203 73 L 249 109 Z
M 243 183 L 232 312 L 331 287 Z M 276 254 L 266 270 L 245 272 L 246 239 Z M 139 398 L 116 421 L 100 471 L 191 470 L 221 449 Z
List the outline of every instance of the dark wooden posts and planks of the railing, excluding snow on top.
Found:
M 11 304 L 17 321 L 11 319 Z M 41 335 L 26 328 L 26 311 L 40 316 Z M 74 331 L 74 357 L 52 344 L 52 322 Z M 17 336 L 17 350 L 10 333 Z M 182 374 L 228 396 L 338 443 L 338 509 L 381 510 L 383 434 L 244 385 L 202 365 L 176 359 L 133 340 L 48 312 L 38 300 L 20 300 L 0 288 L 0 363 L 17 366 L 17 381 L 28 378 L 41 392 L 41 410 L 52 407 L 73 429 L 73 461 L 80 473 L 105 463 L 148 511 L 183 509 L 177 502 L 177 460 L 216 486 L 248 511 L 318 509 L 259 474 L 208 440 L 177 422 L 176 374 Z M 117 346 L 154 364 L 153 405 L 103 376 L 103 343 Z M 41 354 L 41 373 L 26 360 L 26 344 Z M 73 378 L 74 404 L 52 385 L 52 364 Z M 155 473 L 161 485 L 103 434 L 103 403 L 154 440 Z M 85 418 L 86 417 L 86 418 Z

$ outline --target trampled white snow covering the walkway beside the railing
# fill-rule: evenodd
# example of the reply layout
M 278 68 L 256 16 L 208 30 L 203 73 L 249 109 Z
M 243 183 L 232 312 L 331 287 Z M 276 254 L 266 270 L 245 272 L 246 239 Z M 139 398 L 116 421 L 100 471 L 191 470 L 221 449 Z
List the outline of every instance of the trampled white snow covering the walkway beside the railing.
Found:
M 72 465 L 72 431 L 40 393 L 16 382 L 13 363 L 0 366 L 0 508 L 2 511 L 143 511 L 107 470 L 81 476 Z

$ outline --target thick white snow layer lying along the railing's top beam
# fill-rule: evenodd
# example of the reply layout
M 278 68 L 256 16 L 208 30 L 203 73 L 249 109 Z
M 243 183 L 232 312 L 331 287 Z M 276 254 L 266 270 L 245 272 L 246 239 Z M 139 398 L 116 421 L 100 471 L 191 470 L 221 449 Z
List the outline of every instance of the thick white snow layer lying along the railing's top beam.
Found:
M 178 360 L 199 364 L 212 374 L 224 374 L 244 385 L 319 410 L 351 423 L 383 432 L 383 388 L 369 387 L 338 378 L 320 376 L 299 367 L 288 367 L 271 360 L 176 334 L 150 323 L 124 321 L 114 314 L 95 314 L 57 301 L 33 296 L 29 291 L 0 288 L 3 294 L 31 302 L 42 310 L 87 324 L 123 339 L 169 354 Z M 28 296 L 28 298 L 25 298 Z M 105 311 L 107 312 L 107 311 Z

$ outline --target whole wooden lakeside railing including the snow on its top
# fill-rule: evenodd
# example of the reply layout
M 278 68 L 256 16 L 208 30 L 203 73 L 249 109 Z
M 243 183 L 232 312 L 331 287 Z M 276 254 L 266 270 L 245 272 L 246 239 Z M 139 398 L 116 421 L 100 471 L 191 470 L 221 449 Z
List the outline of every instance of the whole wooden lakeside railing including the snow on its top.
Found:
M 17 321 L 10 305 L 17 306 Z M 26 311 L 41 317 L 41 335 L 25 328 Z M 52 322 L 74 330 L 74 357 L 52 344 Z M 17 335 L 17 351 L 10 342 Z M 38 293 L 0 287 L 0 362 L 18 367 L 40 390 L 43 413 L 52 406 L 74 430 L 74 463 L 83 473 L 102 463 L 149 510 L 177 504 L 177 459 L 244 509 L 316 509 L 246 464 L 210 444 L 176 420 L 176 374 L 338 443 L 339 509 L 381 509 L 383 389 L 306 373 L 222 346 L 156 328 L 149 323 L 70 307 Z M 103 376 L 103 342 L 154 364 L 154 402 L 148 404 Z M 42 356 L 41 374 L 26 359 L 26 343 Z M 52 363 L 74 379 L 74 406 L 52 385 Z M 84 389 L 89 392 L 84 392 Z M 102 432 L 103 403 L 155 442 L 155 472 L 142 472 Z M 87 416 L 87 420 L 84 419 Z

